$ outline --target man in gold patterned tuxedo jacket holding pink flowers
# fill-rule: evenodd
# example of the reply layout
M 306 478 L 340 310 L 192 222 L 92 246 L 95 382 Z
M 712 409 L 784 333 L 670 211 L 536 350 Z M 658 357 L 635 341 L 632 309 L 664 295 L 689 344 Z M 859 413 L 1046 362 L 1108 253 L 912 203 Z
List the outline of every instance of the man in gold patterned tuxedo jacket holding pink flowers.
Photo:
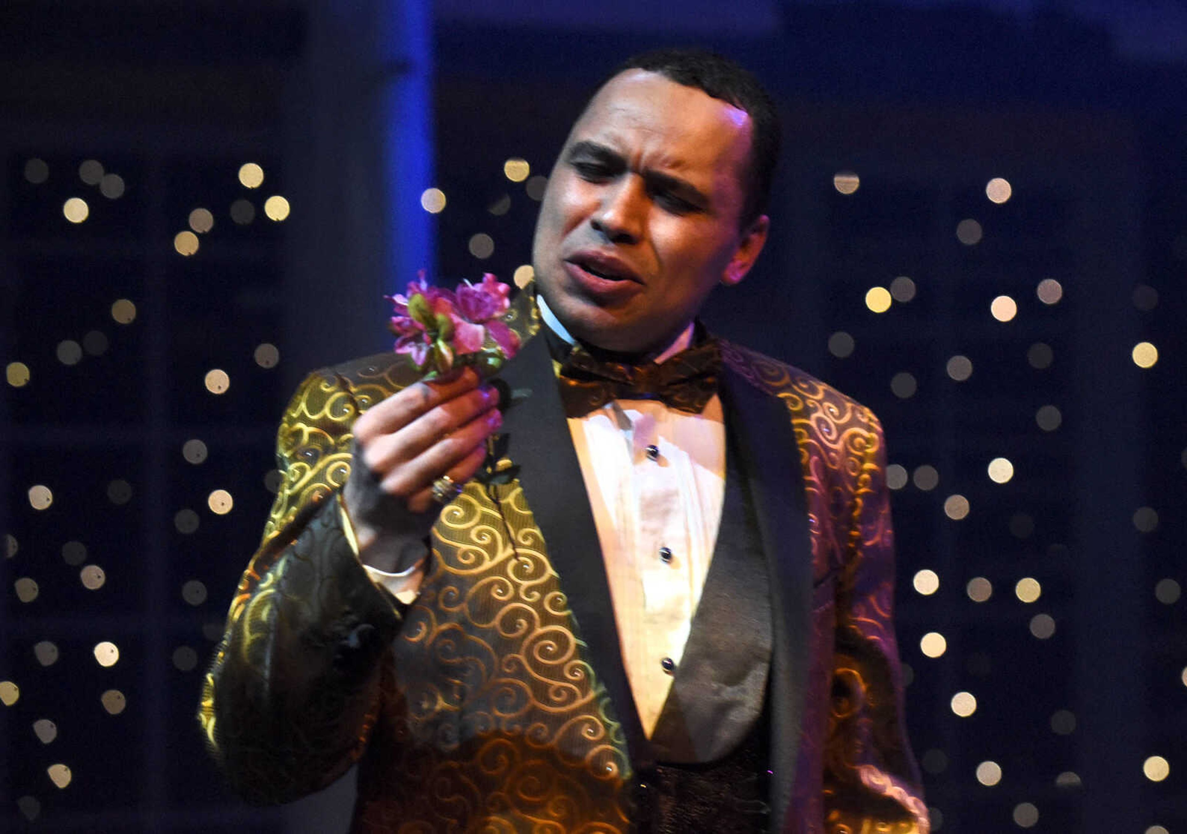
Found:
M 881 428 L 694 321 L 762 250 L 777 144 L 732 63 L 628 62 L 497 386 L 306 380 L 199 713 L 245 796 L 358 762 L 361 832 L 928 830 Z

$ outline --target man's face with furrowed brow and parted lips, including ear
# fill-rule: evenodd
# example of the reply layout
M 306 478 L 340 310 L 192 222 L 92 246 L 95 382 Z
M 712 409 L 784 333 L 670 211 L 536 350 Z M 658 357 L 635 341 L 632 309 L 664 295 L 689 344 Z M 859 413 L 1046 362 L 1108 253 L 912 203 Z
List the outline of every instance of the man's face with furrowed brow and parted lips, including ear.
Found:
M 740 229 L 750 116 L 656 72 L 627 70 L 590 101 L 537 222 L 539 292 L 598 348 L 662 348 L 717 284 L 745 276 L 767 218 Z

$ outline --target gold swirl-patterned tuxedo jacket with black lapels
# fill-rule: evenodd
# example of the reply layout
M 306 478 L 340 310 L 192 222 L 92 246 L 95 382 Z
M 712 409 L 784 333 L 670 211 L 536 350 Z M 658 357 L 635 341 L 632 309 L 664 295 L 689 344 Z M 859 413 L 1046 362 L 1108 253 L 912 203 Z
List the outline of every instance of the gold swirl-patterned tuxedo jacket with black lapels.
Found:
M 509 319 L 529 337 L 538 314 L 520 310 Z M 770 585 L 772 830 L 926 834 L 881 427 L 794 368 L 722 351 Z M 288 403 L 284 483 L 198 713 L 249 801 L 297 798 L 357 762 L 357 832 L 630 829 L 634 773 L 653 753 L 545 339 L 501 377 L 500 454 L 442 511 L 408 606 L 360 566 L 336 495 L 355 418 L 414 373 L 369 357 L 311 375 Z

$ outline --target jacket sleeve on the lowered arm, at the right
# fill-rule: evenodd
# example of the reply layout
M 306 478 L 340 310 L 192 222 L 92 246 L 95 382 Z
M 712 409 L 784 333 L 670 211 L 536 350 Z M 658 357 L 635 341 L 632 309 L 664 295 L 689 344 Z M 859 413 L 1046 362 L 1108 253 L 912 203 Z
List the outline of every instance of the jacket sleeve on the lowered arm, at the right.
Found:
M 882 427 L 865 409 L 852 524 L 838 577 L 831 714 L 824 749 L 825 830 L 927 834 L 927 807 L 903 726 L 893 623 L 894 536 Z

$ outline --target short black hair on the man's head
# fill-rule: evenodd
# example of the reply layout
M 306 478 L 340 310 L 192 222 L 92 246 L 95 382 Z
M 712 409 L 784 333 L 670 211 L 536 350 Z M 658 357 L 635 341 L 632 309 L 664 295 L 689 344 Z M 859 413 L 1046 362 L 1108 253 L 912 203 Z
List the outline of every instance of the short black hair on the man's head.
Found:
M 747 112 L 754 129 L 743 183 L 745 202 L 740 217 L 742 228 L 748 228 L 764 214 L 770 203 L 770 183 L 775 177 L 782 132 L 775 102 L 754 74 L 732 58 L 694 47 L 640 52 L 622 62 L 607 81 L 627 70 L 658 72 L 668 81 L 694 87 Z

